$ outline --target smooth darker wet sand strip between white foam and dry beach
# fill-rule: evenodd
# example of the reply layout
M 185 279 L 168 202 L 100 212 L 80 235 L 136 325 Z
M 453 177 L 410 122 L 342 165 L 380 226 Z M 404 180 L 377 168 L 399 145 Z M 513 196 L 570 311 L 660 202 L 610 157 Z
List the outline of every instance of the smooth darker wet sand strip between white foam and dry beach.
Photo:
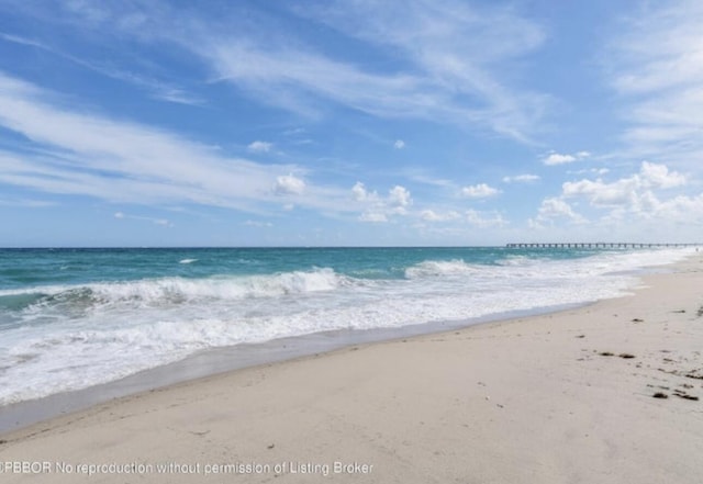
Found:
M 357 345 L 391 342 L 405 338 L 466 329 L 479 325 L 510 322 L 521 317 L 558 314 L 596 303 L 598 301 L 591 301 L 580 304 L 498 313 L 472 319 L 420 323 L 402 327 L 337 329 L 279 338 L 260 344 L 210 348 L 188 356 L 182 360 L 143 370 L 112 382 L 0 406 L 0 438 L 4 434 L 20 431 L 44 420 L 86 410 L 113 399 L 166 389 L 181 383 L 196 382 L 209 376 L 324 356 L 335 351 L 343 351 Z

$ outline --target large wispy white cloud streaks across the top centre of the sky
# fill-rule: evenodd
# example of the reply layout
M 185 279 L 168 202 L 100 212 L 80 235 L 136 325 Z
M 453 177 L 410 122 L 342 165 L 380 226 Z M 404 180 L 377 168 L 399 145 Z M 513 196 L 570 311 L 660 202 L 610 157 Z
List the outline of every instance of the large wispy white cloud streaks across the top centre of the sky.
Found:
M 514 89 L 498 74 L 498 66 L 536 49 L 545 38 L 537 23 L 515 10 L 438 0 L 410 5 L 337 1 L 294 11 L 379 53 L 392 52 L 406 67 L 378 69 L 353 53 L 332 58 L 301 37 L 291 42 L 291 33 L 244 38 L 231 30 L 201 27 L 199 42 L 174 41 L 258 102 L 304 115 L 320 115 L 324 102 L 332 102 L 381 117 L 479 125 L 527 140 L 550 103 L 545 94 Z

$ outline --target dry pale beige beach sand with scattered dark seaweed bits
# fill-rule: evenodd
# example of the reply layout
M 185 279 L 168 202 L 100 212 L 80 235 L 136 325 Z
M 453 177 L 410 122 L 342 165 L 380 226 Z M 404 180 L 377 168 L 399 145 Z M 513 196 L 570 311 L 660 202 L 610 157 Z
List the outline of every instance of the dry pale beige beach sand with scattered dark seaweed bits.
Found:
M 239 370 L 41 423 L 0 436 L 0 481 L 698 484 L 703 258 L 672 270 L 633 296 Z M 43 474 L 13 472 L 44 462 Z

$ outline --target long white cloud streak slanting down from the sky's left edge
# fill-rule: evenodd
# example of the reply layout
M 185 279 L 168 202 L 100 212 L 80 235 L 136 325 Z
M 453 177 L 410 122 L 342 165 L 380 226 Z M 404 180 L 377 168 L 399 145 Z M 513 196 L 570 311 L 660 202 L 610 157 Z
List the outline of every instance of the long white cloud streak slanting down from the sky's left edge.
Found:
M 0 126 L 30 140 L 21 156 L 0 151 L 1 182 L 112 202 L 197 203 L 250 212 L 295 195 L 297 204 L 348 211 L 342 190 L 306 187 L 300 167 L 225 157 L 163 130 L 67 110 L 53 98 L 0 74 Z

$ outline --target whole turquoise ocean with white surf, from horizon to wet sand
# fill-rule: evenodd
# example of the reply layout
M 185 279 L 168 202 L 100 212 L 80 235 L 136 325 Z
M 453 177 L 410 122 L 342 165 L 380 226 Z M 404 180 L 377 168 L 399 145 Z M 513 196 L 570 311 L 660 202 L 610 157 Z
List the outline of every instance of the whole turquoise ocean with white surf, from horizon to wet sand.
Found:
M 692 249 L 0 249 L 0 406 L 217 348 L 548 312 Z

